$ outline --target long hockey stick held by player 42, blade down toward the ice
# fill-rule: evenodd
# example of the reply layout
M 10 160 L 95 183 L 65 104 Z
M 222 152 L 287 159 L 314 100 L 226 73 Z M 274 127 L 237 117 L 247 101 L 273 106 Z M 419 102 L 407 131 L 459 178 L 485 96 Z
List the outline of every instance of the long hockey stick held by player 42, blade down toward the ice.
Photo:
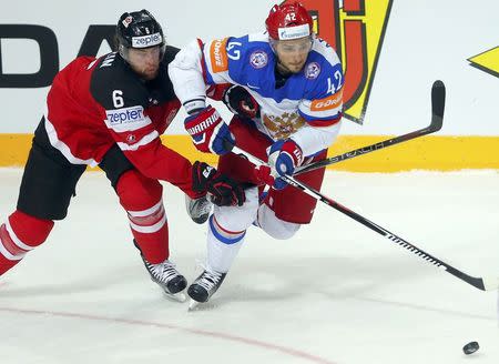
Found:
M 249 162 L 252 162 L 255 165 L 267 165 L 262 160 L 247 153 L 246 151 L 243 151 L 242 149 L 240 149 L 237 146 L 234 146 L 232 152 L 237 153 L 237 154 L 243 154 L 245 158 L 247 158 L 249 160 Z M 350 209 L 345 208 L 343 204 L 334 201 L 333 199 L 325 196 L 324 194 L 322 194 L 320 192 L 316 191 L 315 189 L 306 185 L 305 183 L 297 181 L 293 176 L 282 176 L 282 179 L 284 181 L 286 181 L 288 184 L 293 185 L 294 188 L 302 190 L 303 192 L 305 192 L 309 196 L 314 198 L 315 200 L 318 200 L 318 201 L 327 204 L 328 206 L 346 214 L 347 216 L 361 223 L 364 226 L 369 228 L 370 230 L 377 232 L 378 234 L 389 239 L 391 242 L 407 249 L 409 252 L 415 253 L 416 255 L 424 259 L 428 263 L 431 263 L 437 267 L 444 269 L 448 273 L 452 274 L 454 276 L 457 276 L 458 279 L 465 281 L 466 283 L 471 284 L 472 286 L 475 286 L 481 291 L 492 291 L 492 290 L 497 290 L 499 287 L 499 279 L 498 277 L 470 276 L 470 275 L 455 269 L 454 266 L 440 261 L 439 259 L 426 253 L 425 251 L 420 250 L 416 245 L 413 245 L 408 241 L 389 232 L 385 228 L 381 228 L 378 224 L 376 224 L 376 223 L 369 221 L 368 219 L 359 215 L 358 213 L 352 211 Z

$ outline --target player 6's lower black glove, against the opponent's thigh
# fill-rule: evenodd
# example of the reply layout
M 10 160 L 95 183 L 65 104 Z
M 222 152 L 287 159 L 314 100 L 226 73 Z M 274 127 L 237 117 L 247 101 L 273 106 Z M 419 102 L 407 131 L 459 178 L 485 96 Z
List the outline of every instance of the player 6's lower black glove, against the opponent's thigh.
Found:
M 192 190 L 207 192 L 218 206 L 242 206 L 246 201 L 243 188 L 204 162 L 192 165 Z

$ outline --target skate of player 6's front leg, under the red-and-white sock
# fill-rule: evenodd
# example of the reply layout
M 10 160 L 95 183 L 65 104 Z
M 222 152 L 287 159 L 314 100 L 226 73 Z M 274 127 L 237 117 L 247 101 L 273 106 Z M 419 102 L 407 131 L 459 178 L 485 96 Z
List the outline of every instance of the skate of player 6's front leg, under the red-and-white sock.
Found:
M 179 302 L 185 302 L 185 293 L 182 291 L 187 286 L 185 277 L 175 269 L 175 264 L 165 260 L 163 263 L 152 264 L 144 257 L 145 269 L 151 275 L 151 280 L 157 283 L 170 297 Z

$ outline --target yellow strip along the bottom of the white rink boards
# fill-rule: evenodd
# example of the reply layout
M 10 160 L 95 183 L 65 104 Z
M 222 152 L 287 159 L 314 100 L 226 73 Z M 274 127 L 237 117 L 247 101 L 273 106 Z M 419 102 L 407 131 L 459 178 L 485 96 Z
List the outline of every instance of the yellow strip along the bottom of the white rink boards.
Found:
M 389 139 L 390 135 L 340 135 L 328 155 L 337 155 Z M 0 166 L 22 166 L 32 134 L 0 134 Z M 197 152 L 187 135 L 163 135 L 163 143 L 191 161 L 216 163 L 216 156 Z M 430 135 L 375 151 L 369 155 L 329 165 L 350 172 L 400 172 L 410 170 L 499 170 L 499 136 Z

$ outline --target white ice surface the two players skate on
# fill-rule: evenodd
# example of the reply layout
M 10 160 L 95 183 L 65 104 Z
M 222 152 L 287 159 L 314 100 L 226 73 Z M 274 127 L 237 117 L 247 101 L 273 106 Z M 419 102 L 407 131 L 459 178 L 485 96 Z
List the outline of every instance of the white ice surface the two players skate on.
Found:
M 21 170 L 0 170 L 0 221 Z M 475 276 L 499 275 L 499 173 L 327 172 L 323 193 Z M 43 191 L 40 191 L 43 193 Z M 319 203 L 289 241 L 252 228 L 195 312 L 166 300 L 102 173 L 0 279 L 0 363 L 497 364 L 497 292 L 481 292 Z M 165 188 L 172 260 L 192 281 L 205 229 Z M 478 341 L 466 356 L 461 347 Z

